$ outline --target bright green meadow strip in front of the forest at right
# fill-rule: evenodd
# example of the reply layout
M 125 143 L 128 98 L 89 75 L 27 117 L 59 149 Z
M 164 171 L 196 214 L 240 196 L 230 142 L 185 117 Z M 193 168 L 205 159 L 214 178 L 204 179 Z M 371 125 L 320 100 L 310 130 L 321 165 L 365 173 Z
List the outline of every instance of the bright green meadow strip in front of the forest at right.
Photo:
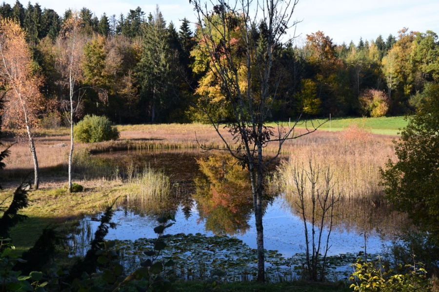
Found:
M 313 120 L 315 125 L 322 124 L 319 129 L 324 131 L 342 131 L 350 124 L 357 124 L 370 128 L 373 134 L 380 135 L 398 135 L 399 129 L 404 128 L 407 125 L 407 121 L 404 117 L 336 117 L 332 118 L 331 122 L 324 119 Z M 270 123 L 270 126 L 275 126 L 275 123 Z M 288 127 L 288 121 L 283 122 L 284 126 Z M 291 125 L 292 122 L 291 122 Z M 298 128 L 305 128 L 305 124 L 301 123 L 297 125 Z M 311 125 L 308 123 L 308 128 Z

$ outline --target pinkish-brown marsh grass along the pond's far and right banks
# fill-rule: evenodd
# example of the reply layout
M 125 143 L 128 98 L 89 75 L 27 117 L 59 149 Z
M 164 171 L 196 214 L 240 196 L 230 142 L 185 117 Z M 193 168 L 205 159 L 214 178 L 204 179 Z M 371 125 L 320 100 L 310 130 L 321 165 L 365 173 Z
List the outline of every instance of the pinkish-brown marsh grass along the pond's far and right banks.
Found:
M 159 125 L 122 125 L 118 126 L 120 138 L 117 141 L 100 143 L 75 143 L 76 179 L 84 179 L 91 174 L 105 179 L 117 178 L 114 170 L 89 160 L 87 152 L 111 152 L 118 150 L 142 149 L 200 149 L 200 143 L 214 148 L 223 146 L 218 134 L 212 126 L 205 124 L 159 124 Z M 274 129 L 277 130 L 277 129 Z M 221 133 L 231 140 L 225 129 Z M 305 129 L 298 129 L 305 131 Z M 56 135 L 57 133 L 61 135 Z M 298 133 L 296 133 L 298 134 Z M 349 127 L 342 132 L 316 131 L 298 139 L 288 140 L 283 144 L 282 153 L 290 156 L 283 163 L 280 171 L 285 175 L 288 164 L 295 161 L 307 161 L 310 156 L 317 162 L 330 165 L 342 186 L 342 193 L 347 196 L 379 195 L 379 167 L 384 166 L 388 157 L 394 157 L 391 136 L 373 135 L 363 128 Z M 59 129 L 48 132 L 41 130 L 36 133 L 35 144 L 42 170 L 44 183 L 67 180 L 67 152 L 69 148 L 68 131 Z M 5 142 L 13 142 L 9 138 Z M 62 144 L 67 144 L 61 147 Z M 57 147 L 58 146 L 58 147 Z M 278 144 L 272 142 L 264 151 L 277 151 Z M 26 140 L 18 139 L 18 143 L 11 147 L 11 155 L 6 158 L 7 165 L 3 177 L 17 179 L 33 169 L 32 158 Z M 88 161 L 87 161 L 88 160 Z M 15 178 L 15 179 L 14 179 Z M 286 179 L 286 180 L 285 180 Z M 287 176 L 284 178 L 287 183 Z

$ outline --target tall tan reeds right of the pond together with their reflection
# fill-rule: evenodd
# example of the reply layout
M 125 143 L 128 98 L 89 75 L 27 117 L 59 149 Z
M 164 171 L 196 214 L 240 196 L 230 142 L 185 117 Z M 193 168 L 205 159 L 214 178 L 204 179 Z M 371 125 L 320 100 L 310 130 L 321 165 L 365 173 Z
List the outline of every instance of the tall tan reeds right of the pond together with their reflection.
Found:
M 379 230 L 388 236 L 407 224 L 404 214 L 387 205 L 380 185 L 379 169 L 396 157 L 391 137 L 372 135 L 367 128 L 351 125 L 342 132 L 320 132 L 290 141 L 285 149 L 289 158 L 279 165 L 273 183 L 293 213 L 298 214 L 293 172 L 302 163 L 306 167 L 311 159 L 334 172 L 334 188 L 341 195 L 341 204 L 334 211 L 336 229 L 358 233 Z M 309 192 L 305 200 L 311 204 Z

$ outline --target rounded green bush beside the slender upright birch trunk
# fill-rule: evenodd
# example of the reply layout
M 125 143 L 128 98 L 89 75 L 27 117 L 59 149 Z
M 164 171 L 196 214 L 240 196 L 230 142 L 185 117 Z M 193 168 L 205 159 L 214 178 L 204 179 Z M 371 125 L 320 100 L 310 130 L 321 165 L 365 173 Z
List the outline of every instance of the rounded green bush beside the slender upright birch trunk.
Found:
M 76 141 L 85 143 L 116 140 L 119 138 L 119 131 L 111 125 L 106 117 L 85 116 L 73 129 Z

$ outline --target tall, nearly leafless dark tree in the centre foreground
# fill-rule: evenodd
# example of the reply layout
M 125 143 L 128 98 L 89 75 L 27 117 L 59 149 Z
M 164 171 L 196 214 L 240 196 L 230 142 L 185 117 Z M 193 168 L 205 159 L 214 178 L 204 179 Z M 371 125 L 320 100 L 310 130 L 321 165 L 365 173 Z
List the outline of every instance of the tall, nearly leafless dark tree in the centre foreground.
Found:
M 290 23 L 298 0 L 218 0 L 201 3 L 192 0 L 198 16 L 198 56 L 196 66 L 204 66 L 211 74 L 216 99 L 224 99 L 230 115 L 226 128 L 233 136 L 233 144 L 220 133 L 221 125 L 207 107 L 196 106 L 210 119 L 225 148 L 239 159 L 250 172 L 253 208 L 257 230 L 258 282 L 265 282 L 262 200 L 264 170 L 276 159 L 283 143 L 291 138 L 314 132 L 318 126 L 302 133 L 293 127 L 277 130 L 267 127 L 270 110 L 277 98 L 280 78 L 273 73 L 276 50 L 282 47 L 280 39 Z M 254 9 L 253 11 L 251 11 Z M 212 91 L 211 91 L 212 92 Z M 269 159 L 263 155 L 268 143 L 276 143 L 277 152 Z M 200 145 L 203 149 L 211 148 Z

